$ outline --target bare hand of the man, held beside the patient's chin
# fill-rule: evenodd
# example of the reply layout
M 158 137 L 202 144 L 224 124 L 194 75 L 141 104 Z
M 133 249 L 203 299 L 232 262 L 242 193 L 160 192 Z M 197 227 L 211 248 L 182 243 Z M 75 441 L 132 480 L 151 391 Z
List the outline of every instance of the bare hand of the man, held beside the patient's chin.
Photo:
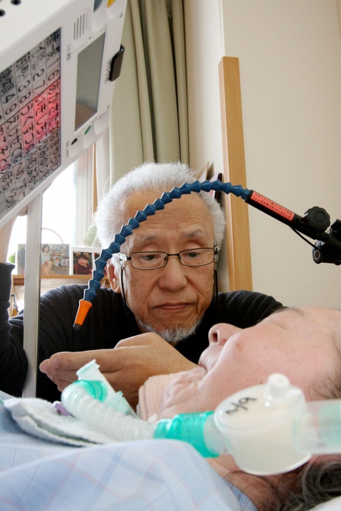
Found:
M 42 373 L 63 390 L 77 379 L 76 371 L 96 359 L 110 385 L 122 390 L 133 408 L 139 388 L 150 376 L 186 371 L 196 366 L 157 334 L 141 334 L 122 339 L 110 350 L 55 353 L 40 364 Z

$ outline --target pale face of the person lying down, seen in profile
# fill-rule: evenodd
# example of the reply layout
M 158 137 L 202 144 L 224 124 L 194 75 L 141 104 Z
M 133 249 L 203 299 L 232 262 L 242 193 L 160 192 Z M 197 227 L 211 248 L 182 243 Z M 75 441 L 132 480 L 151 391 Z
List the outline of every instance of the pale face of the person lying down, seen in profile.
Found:
M 235 392 L 266 383 L 272 373 L 287 376 L 307 399 L 321 399 L 318 384 L 339 363 L 337 330 L 340 313 L 319 307 L 286 309 L 247 329 L 218 323 L 199 367 L 179 373 L 166 388 L 161 417 L 214 410 Z

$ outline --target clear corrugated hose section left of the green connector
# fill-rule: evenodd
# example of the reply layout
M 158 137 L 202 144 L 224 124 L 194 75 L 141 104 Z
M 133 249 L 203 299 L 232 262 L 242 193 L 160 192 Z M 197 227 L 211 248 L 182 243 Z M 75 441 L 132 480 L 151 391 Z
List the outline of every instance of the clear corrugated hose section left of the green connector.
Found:
M 89 396 L 82 385 L 69 385 L 61 394 L 63 406 L 72 415 L 86 422 L 95 430 L 118 441 L 153 438 L 152 423 L 134 419 Z

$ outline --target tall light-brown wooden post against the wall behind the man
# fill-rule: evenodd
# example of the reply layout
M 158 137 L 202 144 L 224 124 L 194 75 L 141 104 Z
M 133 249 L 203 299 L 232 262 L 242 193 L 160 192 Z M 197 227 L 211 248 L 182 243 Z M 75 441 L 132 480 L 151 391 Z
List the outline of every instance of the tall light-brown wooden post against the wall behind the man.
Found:
M 219 89 L 223 147 L 223 181 L 246 188 L 245 153 L 239 60 L 219 62 Z M 232 194 L 222 197 L 226 214 L 229 290 L 252 290 L 251 249 L 247 204 Z

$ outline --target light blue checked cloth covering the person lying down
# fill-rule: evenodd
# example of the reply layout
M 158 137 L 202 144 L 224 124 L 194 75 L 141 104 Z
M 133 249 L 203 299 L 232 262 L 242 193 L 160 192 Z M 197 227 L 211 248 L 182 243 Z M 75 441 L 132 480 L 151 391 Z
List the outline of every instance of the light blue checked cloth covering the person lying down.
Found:
M 178 440 L 70 447 L 28 435 L 0 405 L 0 452 L 2 510 L 256 509 L 248 499 L 238 502 L 235 487 Z M 313 509 L 340 505 L 337 497 Z

